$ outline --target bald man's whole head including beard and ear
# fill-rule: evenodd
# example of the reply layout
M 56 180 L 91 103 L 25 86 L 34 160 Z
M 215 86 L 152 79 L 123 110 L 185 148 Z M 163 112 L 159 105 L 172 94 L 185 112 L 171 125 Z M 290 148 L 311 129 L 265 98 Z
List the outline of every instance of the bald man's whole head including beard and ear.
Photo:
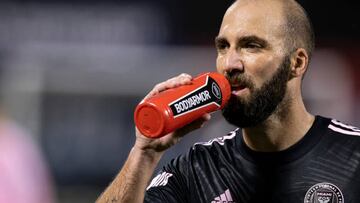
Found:
M 232 85 L 224 117 L 239 127 L 251 127 L 283 101 L 301 99 L 301 79 L 313 44 L 310 22 L 295 1 L 236 1 L 216 38 L 217 69 Z

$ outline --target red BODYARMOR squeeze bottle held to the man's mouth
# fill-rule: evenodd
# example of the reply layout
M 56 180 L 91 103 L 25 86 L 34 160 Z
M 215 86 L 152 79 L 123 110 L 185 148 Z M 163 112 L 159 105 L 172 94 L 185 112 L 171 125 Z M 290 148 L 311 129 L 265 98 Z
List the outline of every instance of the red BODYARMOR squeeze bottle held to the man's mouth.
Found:
M 143 135 L 161 137 L 205 113 L 222 109 L 230 95 L 230 84 L 223 75 L 204 73 L 190 85 L 168 89 L 142 101 L 135 109 L 135 124 Z

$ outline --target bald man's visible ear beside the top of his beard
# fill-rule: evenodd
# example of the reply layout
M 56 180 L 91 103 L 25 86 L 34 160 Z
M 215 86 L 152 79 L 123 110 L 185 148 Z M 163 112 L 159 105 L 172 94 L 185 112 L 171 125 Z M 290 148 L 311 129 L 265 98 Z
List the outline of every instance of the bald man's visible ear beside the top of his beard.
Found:
M 298 48 L 291 54 L 291 78 L 303 77 L 309 64 L 309 56 L 305 49 Z

